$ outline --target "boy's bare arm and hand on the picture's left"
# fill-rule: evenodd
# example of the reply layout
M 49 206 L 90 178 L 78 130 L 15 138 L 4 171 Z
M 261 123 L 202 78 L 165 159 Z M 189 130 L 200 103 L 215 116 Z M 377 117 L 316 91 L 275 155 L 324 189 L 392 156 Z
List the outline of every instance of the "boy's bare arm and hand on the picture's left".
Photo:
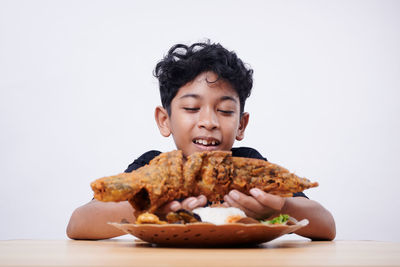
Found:
M 161 207 L 158 215 L 165 215 L 170 211 L 179 209 L 192 210 L 202 207 L 207 203 L 205 196 L 189 197 L 182 202 L 171 201 Z M 125 233 L 108 222 L 120 222 L 122 219 L 134 223 L 134 209 L 128 201 L 101 202 L 92 200 L 77 208 L 71 215 L 67 226 L 67 235 L 71 239 L 105 239 L 112 238 Z

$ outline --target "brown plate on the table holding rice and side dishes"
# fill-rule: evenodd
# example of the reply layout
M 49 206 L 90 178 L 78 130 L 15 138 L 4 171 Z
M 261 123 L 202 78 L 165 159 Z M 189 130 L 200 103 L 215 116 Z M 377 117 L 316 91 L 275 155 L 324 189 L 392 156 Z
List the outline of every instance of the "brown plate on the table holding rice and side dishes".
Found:
M 308 220 L 292 219 L 294 225 L 230 223 L 193 224 L 121 224 L 109 223 L 143 241 L 162 246 L 237 246 L 256 245 L 292 233 L 306 226 Z

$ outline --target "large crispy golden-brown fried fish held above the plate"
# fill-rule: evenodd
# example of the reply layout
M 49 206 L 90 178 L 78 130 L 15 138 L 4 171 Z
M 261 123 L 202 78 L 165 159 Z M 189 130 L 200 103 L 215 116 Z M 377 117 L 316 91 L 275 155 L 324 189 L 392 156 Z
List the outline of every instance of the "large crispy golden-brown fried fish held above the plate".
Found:
M 91 183 L 100 201 L 125 201 L 135 215 L 154 213 L 174 199 L 205 195 L 209 201 L 223 199 L 230 190 L 249 194 L 252 188 L 292 196 L 318 186 L 268 161 L 233 157 L 229 151 L 198 152 L 187 157 L 182 151 L 161 153 L 146 166 L 130 173 L 103 177 Z

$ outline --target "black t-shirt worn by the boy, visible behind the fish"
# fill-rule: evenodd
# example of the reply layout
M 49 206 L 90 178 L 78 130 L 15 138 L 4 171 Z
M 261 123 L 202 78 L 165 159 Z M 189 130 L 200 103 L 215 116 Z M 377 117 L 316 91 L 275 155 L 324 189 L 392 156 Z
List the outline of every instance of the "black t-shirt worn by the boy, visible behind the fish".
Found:
M 257 150 L 254 148 L 250 147 L 234 147 L 231 149 L 232 150 L 232 156 L 234 157 L 242 157 L 242 158 L 253 158 L 253 159 L 262 159 L 262 160 L 267 160 L 264 158 Z M 134 162 L 132 162 L 128 168 L 125 170 L 125 172 L 131 172 L 133 170 L 136 170 L 140 167 L 143 167 L 146 164 L 149 164 L 149 162 L 160 155 L 161 152 L 158 150 L 150 150 L 143 155 L 141 155 L 139 158 L 137 158 Z M 293 194 L 294 197 L 306 197 L 307 196 L 303 192 L 298 192 Z

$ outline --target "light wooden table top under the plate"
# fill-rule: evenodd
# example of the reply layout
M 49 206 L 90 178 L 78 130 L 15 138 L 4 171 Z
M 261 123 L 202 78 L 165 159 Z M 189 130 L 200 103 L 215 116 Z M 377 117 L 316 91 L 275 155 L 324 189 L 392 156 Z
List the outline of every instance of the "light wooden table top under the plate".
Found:
M 400 266 L 400 243 L 275 240 L 248 248 L 166 248 L 135 240 L 0 241 L 0 266 Z

